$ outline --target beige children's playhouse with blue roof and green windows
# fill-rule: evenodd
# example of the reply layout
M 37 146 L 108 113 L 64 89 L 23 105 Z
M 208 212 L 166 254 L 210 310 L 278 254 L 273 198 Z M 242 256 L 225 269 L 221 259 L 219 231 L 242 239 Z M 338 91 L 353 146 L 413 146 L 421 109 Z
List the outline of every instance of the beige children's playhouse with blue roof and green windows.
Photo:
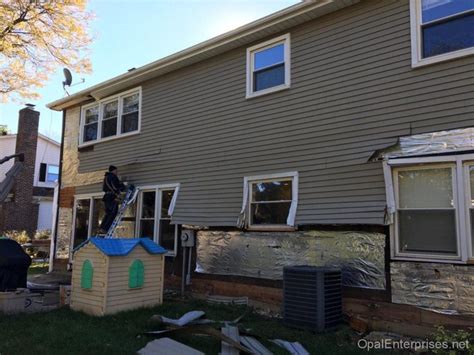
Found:
M 147 238 L 86 240 L 74 251 L 71 308 L 103 316 L 161 304 L 165 253 Z

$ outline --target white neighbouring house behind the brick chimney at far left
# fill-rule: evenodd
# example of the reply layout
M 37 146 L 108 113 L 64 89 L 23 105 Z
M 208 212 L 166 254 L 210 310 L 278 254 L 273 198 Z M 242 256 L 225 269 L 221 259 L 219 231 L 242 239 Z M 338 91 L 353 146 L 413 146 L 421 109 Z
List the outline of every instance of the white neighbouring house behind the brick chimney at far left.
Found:
M 19 125 L 18 130 L 29 130 L 30 123 L 31 122 L 27 122 L 27 127 Z M 37 221 L 35 223 L 36 228 L 34 228 L 36 230 L 51 230 L 53 218 L 53 190 L 55 182 L 59 177 L 60 143 L 41 133 L 38 133 L 37 136 L 35 147 L 22 148 L 21 145 L 17 146 L 16 134 L 0 135 L 0 158 L 15 154 L 15 150 L 17 150 L 18 153 L 25 152 L 34 157 L 34 172 L 31 171 L 33 173 L 31 200 L 32 203 L 38 205 L 38 211 L 32 213 L 34 215 L 29 214 L 27 219 Z M 13 164 L 14 160 L 10 160 L 0 165 L 0 181 L 5 178 L 5 174 L 10 170 Z M 31 178 L 29 174 L 26 177 L 28 179 Z M 26 223 L 28 226 L 30 225 L 29 222 L 30 221 Z M 25 227 L 22 228 L 20 223 L 17 228 L 29 229 L 26 224 Z M 2 223 L 0 223 L 0 229 L 9 228 L 2 226 Z

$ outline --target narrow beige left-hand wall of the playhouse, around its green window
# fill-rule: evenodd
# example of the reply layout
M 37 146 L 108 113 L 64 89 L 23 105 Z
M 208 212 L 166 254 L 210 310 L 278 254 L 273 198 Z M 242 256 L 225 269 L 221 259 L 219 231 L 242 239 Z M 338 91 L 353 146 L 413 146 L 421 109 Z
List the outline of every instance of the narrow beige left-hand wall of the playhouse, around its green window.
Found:
M 92 288 L 81 288 L 82 264 L 89 259 L 94 268 Z M 104 286 L 107 280 L 107 258 L 92 244 L 80 249 L 74 257 L 74 271 L 72 273 L 71 308 L 93 315 L 103 315 Z

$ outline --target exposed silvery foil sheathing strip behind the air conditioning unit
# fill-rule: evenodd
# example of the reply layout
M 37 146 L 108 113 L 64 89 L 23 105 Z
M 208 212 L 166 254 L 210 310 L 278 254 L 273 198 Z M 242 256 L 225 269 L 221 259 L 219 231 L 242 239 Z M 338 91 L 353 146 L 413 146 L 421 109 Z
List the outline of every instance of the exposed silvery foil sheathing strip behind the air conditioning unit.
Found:
M 346 286 L 385 288 L 385 235 L 200 231 L 196 272 L 283 279 L 283 266 L 339 266 Z

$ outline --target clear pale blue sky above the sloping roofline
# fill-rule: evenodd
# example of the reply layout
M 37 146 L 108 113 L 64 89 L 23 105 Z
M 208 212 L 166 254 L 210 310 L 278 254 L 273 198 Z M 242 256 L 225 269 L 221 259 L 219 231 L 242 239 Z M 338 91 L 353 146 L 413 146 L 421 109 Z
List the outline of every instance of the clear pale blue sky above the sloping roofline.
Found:
M 73 73 L 73 84 L 84 84 L 70 93 L 123 74 L 128 69 L 187 48 L 238 26 L 298 3 L 298 0 L 91 0 L 95 13 L 91 32 L 93 72 Z M 62 68 L 58 67 L 41 99 L 33 101 L 40 111 L 40 132 L 56 140 L 61 136 L 61 113 L 45 107 L 64 96 Z M 14 133 L 23 102 L 0 104 L 0 124 Z

